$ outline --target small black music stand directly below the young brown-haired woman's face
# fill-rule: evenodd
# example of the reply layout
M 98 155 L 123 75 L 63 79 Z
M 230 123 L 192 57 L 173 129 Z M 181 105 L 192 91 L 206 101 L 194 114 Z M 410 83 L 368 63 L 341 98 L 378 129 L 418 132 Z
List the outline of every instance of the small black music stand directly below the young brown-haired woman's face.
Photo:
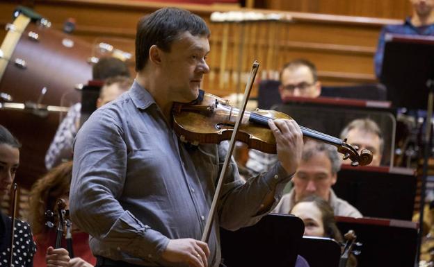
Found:
M 341 246 L 334 239 L 303 236 L 298 254 L 310 267 L 337 267 L 341 258 Z

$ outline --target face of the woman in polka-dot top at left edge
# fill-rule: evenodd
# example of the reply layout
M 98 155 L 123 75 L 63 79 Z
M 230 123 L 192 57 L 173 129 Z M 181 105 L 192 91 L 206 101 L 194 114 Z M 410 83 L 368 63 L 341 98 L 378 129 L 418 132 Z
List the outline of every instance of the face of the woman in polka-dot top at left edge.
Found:
M 10 191 L 19 166 L 19 149 L 0 144 L 0 200 Z

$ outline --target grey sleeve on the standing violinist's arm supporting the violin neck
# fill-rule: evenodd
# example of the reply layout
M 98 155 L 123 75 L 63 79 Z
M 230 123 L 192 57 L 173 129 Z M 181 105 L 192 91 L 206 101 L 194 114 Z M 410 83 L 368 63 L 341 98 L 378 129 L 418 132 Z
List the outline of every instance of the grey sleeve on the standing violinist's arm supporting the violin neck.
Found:
M 219 146 L 220 162 L 223 160 L 227 151 L 227 146 Z M 292 178 L 284 170 L 280 162 L 275 164 L 266 173 L 261 173 L 243 183 L 239 179 L 236 163 L 232 159 L 229 170 L 225 175 L 225 185 L 220 197 L 220 226 L 227 230 L 237 230 L 240 227 L 253 225 L 259 221 L 262 216 L 271 212 L 278 205 L 282 192 Z M 266 196 L 274 191 L 274 203 L 266 212 L 259 214 L 264 209 L 262 206 Z

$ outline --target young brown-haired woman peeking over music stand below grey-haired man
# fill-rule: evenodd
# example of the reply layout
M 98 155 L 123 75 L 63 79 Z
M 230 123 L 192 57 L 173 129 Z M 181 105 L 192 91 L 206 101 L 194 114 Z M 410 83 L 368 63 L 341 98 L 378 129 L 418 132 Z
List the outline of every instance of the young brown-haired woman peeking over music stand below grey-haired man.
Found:
M 337 228 L 335 213 L 332 207 L 319 196 L 307 196 L 292 207 L 289 214 L 294 214 L 305 224 L 305 236 L 319 236 L 343 242 L 341 232 Z M 357 266 L 357 259 L 351 255 L 346 263 L 347 267 Z

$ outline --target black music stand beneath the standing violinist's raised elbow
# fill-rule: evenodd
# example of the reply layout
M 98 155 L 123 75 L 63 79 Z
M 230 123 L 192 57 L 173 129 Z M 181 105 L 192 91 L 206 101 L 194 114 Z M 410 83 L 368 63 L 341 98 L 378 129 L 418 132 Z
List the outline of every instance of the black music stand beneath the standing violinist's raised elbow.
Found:
M 300 218 L 268 214 L 234 232 L 220 228 L 223 264 L 227 267 L 291 267 L 296 264 L 304 232 Z

